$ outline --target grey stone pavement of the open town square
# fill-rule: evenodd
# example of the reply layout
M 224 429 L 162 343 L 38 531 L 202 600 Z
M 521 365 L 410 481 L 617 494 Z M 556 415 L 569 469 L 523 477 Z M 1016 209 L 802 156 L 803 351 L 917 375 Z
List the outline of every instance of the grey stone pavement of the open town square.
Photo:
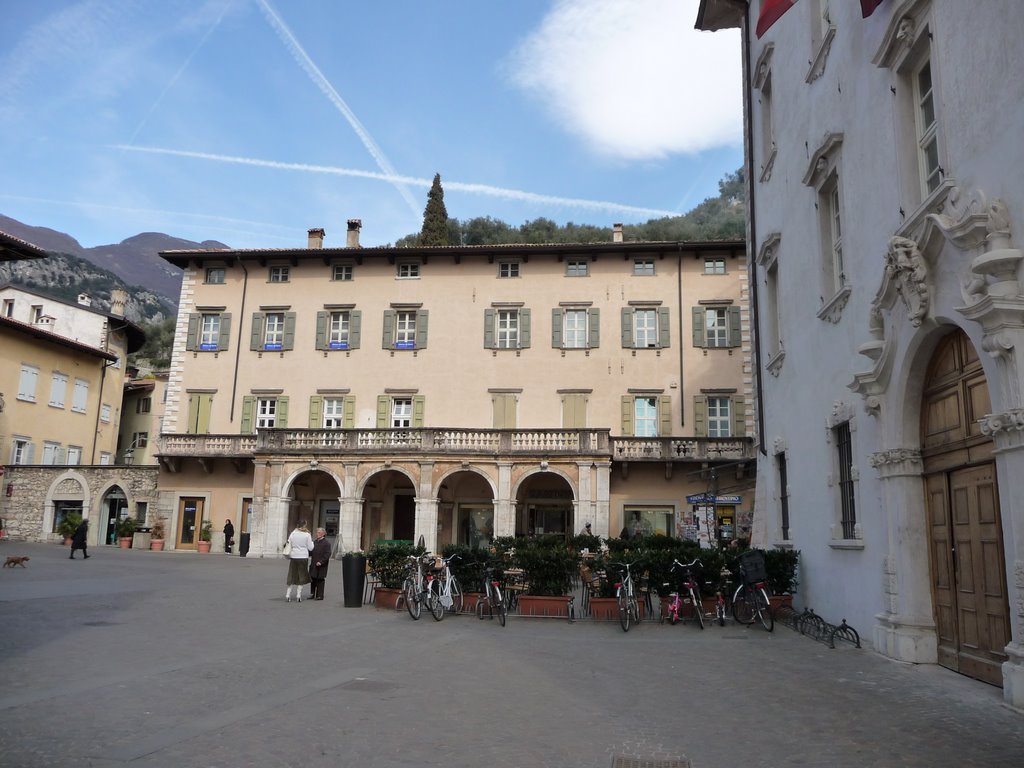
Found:
M 1024 766 L 1024 715 L 785 627 L 286 603 L 280 559 L 5 543 L 0 766 Z M 869 628 L 858 628 L 865 634 Z

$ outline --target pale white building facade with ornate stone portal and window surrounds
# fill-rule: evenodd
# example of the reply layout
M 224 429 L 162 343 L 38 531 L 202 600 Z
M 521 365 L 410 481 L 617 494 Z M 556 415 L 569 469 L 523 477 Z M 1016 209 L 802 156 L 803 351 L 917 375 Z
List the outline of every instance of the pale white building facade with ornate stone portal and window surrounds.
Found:
M 1024 707 L 1024 16 L 705 0 L 743 31 L 755 543 L 800 603 Z

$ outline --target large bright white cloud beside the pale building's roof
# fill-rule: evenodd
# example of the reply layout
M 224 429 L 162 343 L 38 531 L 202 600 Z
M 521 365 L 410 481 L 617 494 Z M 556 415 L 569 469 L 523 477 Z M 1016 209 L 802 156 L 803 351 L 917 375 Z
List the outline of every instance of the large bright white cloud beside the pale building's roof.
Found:
M 737 30 L 693 29 L 697 0 L 558 0 L 509 59 L 513 83 L 595 153 L 628 160 L 742 138 Z

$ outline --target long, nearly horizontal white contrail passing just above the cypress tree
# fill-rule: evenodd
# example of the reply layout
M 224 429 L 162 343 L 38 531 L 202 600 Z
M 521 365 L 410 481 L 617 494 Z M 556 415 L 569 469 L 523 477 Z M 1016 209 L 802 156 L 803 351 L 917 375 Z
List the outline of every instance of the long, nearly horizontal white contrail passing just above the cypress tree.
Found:
M 259 160 L 258 158 L 240 158 L 232 155 L 214 155 L 206 152 L 188 152 L 185 150 L 166 150 L 159 146 L 129 146 L 128 144 L 114 144 L 115 150 L 129 150 L 131 152 L 144 152 L 153 155 L 172 155 L 178 158 L 193 158 L 196 160 L 212 160 L 217 163 L 233 163 L 237 165 L 256 166 L 257 168 L 275 168 L 282 171 L 304 171 L 306 173 L 325 173 L 335 176 L 354 176 L 356 178 L 376 179 L 387 181 L 392 184 L 404 186 L 429 187 L 433 179 L 416 178 L 415 176 L 399 176 L 393 173 L 377 173 L 376 171 L 359 171 L 354 168 L 338 168 L 329 165 L 311 165 L 308 163 L 283 163 L 276 160 Z M 679 216 L 678 211 L 663 211 L 657 208 L 641 208 L 629 206 L 622 203 L 611 203 L 600 200 L 581 200 L 580 198 L 559 198 L 552 195 L 538 195 L 537 193 L 522 191 L 520 189 L 506 189 L 501 186 L 489 184 L 470 184 L 464 181 L 444 181 L 444 188 L 470 193 L 472 195 L 486 195 L 492 198 L 502 198 L 504 200 L 520 200 L 529 203 L 543 203 L 546 205 L 564 206 L 566 208 L 584 208 L 599 211 L 618 211 L 621 213 L 631 213 L 640 216 Z

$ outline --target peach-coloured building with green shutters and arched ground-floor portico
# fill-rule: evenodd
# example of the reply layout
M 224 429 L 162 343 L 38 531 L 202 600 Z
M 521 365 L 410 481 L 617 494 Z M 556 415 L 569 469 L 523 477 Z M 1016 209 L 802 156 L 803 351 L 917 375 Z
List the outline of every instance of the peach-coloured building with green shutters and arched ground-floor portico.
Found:
M 430 548 L 752 502 L 738 241 L 169 251 L 184 269 L 161 513 L 274 553 L 298 519 Z M 732 521 L 730 521 L 732 522 Z M 728 525 L 722 530 L 729 535 Z

